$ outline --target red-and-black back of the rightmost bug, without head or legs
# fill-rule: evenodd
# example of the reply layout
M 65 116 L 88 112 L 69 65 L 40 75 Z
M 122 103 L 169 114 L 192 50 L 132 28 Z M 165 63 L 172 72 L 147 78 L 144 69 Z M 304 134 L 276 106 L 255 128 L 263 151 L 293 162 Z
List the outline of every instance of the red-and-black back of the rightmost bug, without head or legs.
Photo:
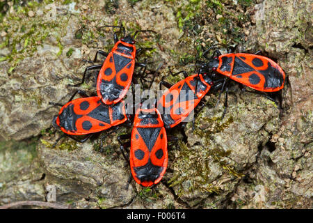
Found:
M 219 56 L 217 72 L 257 91 L 274 92 L 284 87 L 285 74 L 277 63 L 256 54 Z

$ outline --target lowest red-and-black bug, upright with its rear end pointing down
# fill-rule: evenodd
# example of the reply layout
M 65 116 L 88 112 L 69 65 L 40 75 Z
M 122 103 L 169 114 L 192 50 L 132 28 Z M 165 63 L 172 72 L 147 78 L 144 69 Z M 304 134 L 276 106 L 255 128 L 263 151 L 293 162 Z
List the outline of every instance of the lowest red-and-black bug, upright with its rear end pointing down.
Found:
M 136 183 L 144 187 L 156 185 L 163 178 L 168 165 L 167 136 L 160 112 L 155 108 L 138 109 L 130 137 L 130 145 L 123 144 L 121 149 L 123 151 L 130 146 L 132 176 Z M 129 139 L 129 135 L 123 134 L 118 139 Z

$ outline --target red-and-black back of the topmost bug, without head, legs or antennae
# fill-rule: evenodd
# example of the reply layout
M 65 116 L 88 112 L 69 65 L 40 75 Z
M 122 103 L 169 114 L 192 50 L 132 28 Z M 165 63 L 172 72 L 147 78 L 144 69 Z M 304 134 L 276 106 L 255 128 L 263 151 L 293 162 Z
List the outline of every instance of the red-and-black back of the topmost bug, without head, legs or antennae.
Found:
M 136 47 L 118 41 L 99 71 L 97 95 L 106 105 L 120 102 L 126 95 L 135 67 Z

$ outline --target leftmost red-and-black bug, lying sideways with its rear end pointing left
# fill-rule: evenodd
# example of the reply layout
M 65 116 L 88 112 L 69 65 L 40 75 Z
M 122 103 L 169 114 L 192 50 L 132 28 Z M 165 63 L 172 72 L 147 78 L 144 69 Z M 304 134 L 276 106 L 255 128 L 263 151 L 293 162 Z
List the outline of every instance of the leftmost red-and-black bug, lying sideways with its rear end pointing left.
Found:
M 77 93 L 83 98 L 72 100 Z M 86 141 L 93 133 L 107 130 L 128 120 L 124 101 L 110 107 L 104 105 L 98 96 L 88 97 L 81 90 L 75 92 L 74 95 L 52 121 L 54 128 L 61 129 L 72 139 L 75 139 L 72 136 L 88 135 L 81 140 L 81 142 Z

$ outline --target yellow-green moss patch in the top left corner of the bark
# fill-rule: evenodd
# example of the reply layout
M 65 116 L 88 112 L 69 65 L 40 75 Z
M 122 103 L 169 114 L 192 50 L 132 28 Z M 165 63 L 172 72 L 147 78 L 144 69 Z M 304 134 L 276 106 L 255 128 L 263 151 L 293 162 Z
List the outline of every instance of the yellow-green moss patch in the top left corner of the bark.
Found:
M 55 21 L 45 20 L 45 16 L 29 17 L 27 15 L 29 10 L 35 11 L 41 6 L 42 3 L 29 1 L 26 6 L 16 7 L 16 12 L 12 15 L 6 15 L 6 22 L 0 23 L 0 30 L 6 30 L 8 33 L 6 40 L 1 43 L 0 47 L 8 47 L 10 50 L 10 54 L 5 59 L 1 58 L 1 60 L 6 60 L 10 63 L 9 74 L 13 72 L 19 61 L 22 61 L 25 57 L 33 56 L 38 46 L 42 45 L 47 36 L 54 35 L 60 40 L 61 36 L 65 35 L 63 29 L 70 15 Z M 13 22 L 13 20 L 18 22 Z M 63 49 L 60 41 L 58 47 Z M 62 50 L 60 50 L 58 55 L 61 52 Z

